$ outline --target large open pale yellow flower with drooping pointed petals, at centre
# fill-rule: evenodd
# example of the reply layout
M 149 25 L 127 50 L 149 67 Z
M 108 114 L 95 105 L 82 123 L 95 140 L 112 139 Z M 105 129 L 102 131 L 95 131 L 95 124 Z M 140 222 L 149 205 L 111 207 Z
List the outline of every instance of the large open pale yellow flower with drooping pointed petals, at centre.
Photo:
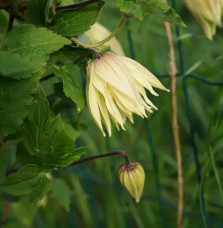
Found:
M 146 111 L 157 109 L 145 90 L 158 96 L 153 87 L 168 91 L 150 71 L 130 58 L 107 52 L 88 62 L 87 102 L 104 136 L 103 124 L 111 136 L 111 119 L 118 130 L 125 130 L 126 119 L 133 123 L 133 113 L 147 117 Z

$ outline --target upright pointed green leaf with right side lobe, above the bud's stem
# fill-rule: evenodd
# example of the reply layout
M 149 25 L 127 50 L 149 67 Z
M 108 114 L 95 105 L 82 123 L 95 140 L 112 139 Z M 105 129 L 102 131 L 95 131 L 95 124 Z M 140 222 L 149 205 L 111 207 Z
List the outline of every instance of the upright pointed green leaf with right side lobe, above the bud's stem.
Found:
M 61 125 L 59 116 L 50 118 L 49 103 L 41 88 L 34 98 L 24 124 L 24 145 L 31 155 L 44 156 L 51 152 L 51 140 Z

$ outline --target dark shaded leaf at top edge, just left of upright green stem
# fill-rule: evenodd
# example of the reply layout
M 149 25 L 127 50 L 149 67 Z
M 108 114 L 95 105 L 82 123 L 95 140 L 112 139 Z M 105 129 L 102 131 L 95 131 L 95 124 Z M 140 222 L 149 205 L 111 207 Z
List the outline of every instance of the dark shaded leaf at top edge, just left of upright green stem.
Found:
M 47 0 L 28 0 L 25 21 L 30 24 L 45 26 L 45 8 Z

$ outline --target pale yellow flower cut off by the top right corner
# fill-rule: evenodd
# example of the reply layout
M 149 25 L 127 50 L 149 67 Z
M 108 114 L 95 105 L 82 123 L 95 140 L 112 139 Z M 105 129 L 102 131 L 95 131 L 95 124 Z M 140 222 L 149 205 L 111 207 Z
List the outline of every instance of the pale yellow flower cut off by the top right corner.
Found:
M 212 40 L 216 27 L 222 25 L 222 0 L 186 0 L 188 9 L 200 23 L 207 38 Z

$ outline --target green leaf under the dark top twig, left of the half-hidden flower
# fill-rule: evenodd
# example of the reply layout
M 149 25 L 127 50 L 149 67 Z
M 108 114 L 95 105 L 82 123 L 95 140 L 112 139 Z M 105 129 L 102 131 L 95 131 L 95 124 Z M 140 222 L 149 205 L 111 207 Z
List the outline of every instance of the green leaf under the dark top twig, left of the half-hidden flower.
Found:
M 50 28 L 63 36 L 82 34 L 96 22 L 103 5 L 104 2 L 101 1 L 73 10 L 59 11 Z

